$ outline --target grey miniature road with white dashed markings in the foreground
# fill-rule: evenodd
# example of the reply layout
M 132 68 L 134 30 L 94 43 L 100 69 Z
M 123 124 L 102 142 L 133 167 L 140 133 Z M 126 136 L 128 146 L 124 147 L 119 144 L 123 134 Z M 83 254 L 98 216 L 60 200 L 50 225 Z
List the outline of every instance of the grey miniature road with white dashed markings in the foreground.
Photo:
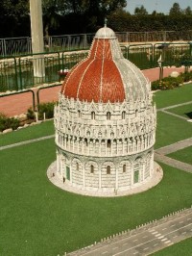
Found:
M 190 237 L 192 237 L 192 209 L 158 220 L 154 226 L 146 230 L 141 228 L 135 230 L 132 235 L 128 233 L 67 255 L 149 255 Z

